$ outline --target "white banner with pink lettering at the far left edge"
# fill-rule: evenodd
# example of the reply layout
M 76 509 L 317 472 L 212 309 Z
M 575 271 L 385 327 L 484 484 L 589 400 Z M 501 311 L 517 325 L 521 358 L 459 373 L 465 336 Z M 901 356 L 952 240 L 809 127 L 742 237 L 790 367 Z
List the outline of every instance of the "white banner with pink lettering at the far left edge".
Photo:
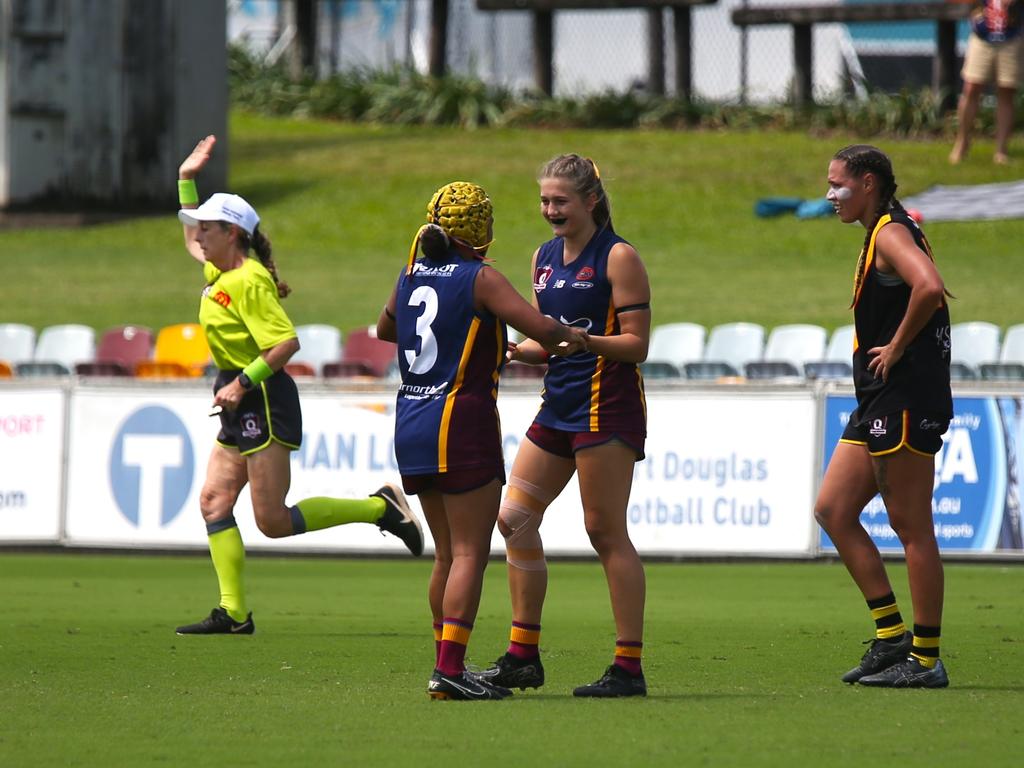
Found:
M 0 389 L 0 544 L 60 540 L 65 393 Z

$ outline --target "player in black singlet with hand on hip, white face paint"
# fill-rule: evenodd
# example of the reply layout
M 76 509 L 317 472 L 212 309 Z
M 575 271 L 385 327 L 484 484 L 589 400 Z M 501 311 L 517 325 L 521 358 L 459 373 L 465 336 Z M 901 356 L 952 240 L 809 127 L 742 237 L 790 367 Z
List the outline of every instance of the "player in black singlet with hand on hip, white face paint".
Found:
M 828 165 L 840 219 L 866 229 L 854 278 L 857 408 L 825 471 L 814 516 L 874 620 L 876 636 L 848 683 L 943 688 L 939 659 L 943 575 L 932 521 L 935 454 L 952 418 L 949 310 L 924 232 L 896 200 L 892 164 L 855 144 Z M 860 512 L 881 494 L 906 553 L 913 602 L 907 632 Z

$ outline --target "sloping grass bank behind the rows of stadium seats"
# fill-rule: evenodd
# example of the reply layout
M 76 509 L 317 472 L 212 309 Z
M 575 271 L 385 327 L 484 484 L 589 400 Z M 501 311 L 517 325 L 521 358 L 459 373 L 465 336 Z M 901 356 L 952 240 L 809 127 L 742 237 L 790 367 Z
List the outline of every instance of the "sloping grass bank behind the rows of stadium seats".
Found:
M 854 136 L 784 132 L 399 129 L 232 114 L 230 186 L 249 198 L 274 243 L 296 324 L 343 330 L 376 321 L 438 185 L 482 183 L 496 205 L 492 255 L 520 290 L 529 255 L 550 237 L 535 175 L 566 151 L 602 168 L 616 226 L 644 258 L 654 323 L 771 327 L 851 322 L 853 264 L 863 231 L 834 220 L 758 219 L 766 196 L 820 197 L 828 159 Z M 859 137 L 863 138 L 863 137 Z M 935 183 L 1006 181 L 982 142 L 951 168 L 937 141 L 883 141 L 900 195 Z M 168 179 L 168 185 L 173 179 Z M 200 191 L 214 191 L 203 185 Z M 1024 322 L 1019 221 L 926 226 L 953 322 Z M 173 210 L 79 229 L 0 230 L 0 322 L 37 329 L 85 323 L 159 328 L 195 319 L 202 275 L 180 244 Z

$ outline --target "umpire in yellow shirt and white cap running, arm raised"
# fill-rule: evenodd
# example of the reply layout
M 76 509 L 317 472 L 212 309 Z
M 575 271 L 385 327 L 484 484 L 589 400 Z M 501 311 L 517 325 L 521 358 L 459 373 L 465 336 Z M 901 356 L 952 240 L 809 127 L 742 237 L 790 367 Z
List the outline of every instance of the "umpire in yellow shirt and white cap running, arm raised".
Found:
M 197 207 L 196 174 L 210 160 L 216 138 L 200 141 L 178 169 L 185 248 L 203 264 L 206 286 L 199 319 L 219 369 L 213 401 L 220 433 L 210 453 L 200 508 L 220 585 L 220 603 L 179 635 L 251 635 L 246 604 L 245 548 L 234 503 L 249 483 L 259 529 L 280 538 L 349 522 L 376 523 L 423 552 L 420 523 L 401 490 L 390 483 L 367 499 L 305 499 L 288 506 L 290 452 L 302 440 L 302 413 L 292 378 L 283 370 L 299 348 L 295 328 L 281 306 L 289 288 L 278 278 L 270 242 L 259 216 L 237 195 L 217 193 Z M 249 255 L 250 250 L 255 258 Z

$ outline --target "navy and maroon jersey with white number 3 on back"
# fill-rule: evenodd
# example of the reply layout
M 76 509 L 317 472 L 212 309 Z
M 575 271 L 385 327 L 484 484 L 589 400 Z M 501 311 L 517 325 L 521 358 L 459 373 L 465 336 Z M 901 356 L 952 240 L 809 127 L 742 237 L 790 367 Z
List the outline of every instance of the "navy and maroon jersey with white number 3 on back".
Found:
M 501 465 L 498 377 L 505 324 L 473 307 L 480 261 L 455 251 L 420 259 L 398 279 L 395 308 L 401 386 L 394 450 L 403 475 Z

